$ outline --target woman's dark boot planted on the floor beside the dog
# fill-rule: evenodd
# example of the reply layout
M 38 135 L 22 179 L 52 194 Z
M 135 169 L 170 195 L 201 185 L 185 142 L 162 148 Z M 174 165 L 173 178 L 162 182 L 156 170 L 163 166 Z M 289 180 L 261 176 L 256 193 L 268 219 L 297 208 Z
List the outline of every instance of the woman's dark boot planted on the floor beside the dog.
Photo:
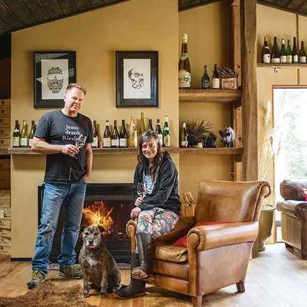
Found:
M 131 254 L 131 272 L 133 268 L 140 265 L 139 255 L 137 253 Z M 130 285 L 121 287 L 114 292 L 117 299 L 133 299 L 133 297 L 142 297 L 146 294 L 146 282 L 140 279 L 135 279 L 130 274 Z

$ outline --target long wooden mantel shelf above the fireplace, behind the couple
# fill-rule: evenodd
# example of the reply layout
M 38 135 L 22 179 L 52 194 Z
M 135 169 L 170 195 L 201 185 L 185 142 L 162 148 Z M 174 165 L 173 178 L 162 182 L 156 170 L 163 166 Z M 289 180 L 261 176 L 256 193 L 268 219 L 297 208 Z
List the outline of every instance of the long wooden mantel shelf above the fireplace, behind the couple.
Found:
M 11 155 L 39 155 L 31 148 L 10 147 L 7 154 Z M 163 147 L 163 151 L 169 153 L 179 153 L 178 147 Z M 116 155 L 116 154 L 137 154 L 137 148 L 93 148 L 94 155 Z

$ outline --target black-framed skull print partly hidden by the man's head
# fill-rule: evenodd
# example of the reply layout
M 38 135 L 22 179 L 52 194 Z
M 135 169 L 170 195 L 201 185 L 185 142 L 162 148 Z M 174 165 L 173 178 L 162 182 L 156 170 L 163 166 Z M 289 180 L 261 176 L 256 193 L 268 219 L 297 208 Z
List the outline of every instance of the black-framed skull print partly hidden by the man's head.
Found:
M 63 107 L 66 87 L 76 82 L 75 51 L 33 52 L 34 108 Z

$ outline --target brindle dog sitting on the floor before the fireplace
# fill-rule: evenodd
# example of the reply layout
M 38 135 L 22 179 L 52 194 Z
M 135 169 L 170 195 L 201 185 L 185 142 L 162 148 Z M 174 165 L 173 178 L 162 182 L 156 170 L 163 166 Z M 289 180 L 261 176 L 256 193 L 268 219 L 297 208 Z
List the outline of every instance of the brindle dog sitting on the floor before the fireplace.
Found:
M 121 273 L 112 255 L 103 244 L 101 226 L 80 228 L 83 245 L 79 263 L 83 276 L 83 297 L 89 297 L 89 289 L 100 290 L 100 297 L 106 297 L 107 291 L 114 292 L 121 288 Z M 91 282 L 91 285 L 89 285 Z

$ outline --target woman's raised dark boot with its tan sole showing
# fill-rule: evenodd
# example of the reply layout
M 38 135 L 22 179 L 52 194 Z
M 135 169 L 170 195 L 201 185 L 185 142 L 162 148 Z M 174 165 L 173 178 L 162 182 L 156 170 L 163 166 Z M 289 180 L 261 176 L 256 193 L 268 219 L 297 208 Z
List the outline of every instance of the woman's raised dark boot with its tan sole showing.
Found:
M 152 273 L 152 237 L 147 232 L 137 232 L 137 249 L 139 251 L 140 267 L 132 270 L 135 279 L 153 280 Z

